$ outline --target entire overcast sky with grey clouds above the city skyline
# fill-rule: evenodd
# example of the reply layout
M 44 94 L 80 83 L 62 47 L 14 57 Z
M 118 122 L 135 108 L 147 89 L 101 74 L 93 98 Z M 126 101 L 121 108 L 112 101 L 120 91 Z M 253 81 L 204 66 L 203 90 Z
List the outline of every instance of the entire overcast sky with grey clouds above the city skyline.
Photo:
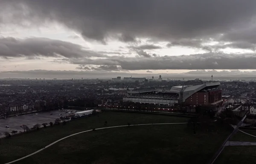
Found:
M 0 0 L 0 78 L 256 75 L 256 0 Z

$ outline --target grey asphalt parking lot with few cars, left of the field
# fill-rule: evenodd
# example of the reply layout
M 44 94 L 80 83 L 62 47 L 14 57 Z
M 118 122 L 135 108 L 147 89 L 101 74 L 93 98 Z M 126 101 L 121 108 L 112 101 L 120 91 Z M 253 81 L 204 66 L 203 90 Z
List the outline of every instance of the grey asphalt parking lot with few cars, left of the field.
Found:
M 52 113 L 52 115 L 50 115 Z M 22 131 L 23 129 L 20 125 L 25 124 L 29 128 L 33 127 L 35 124 L 43 124 L 49 122 L 54 122 L 56 118 L 60 117 L 60 113 L 62 116 L 67 115 L 65 112 L 61 111 L 50 111 L 50 112 L 41 112 L 38 115 L 27 114 L 27 115 L 19 115 L 18 117 L 11 117 L 6 119 L 0 119 L 0 137 L 3 137 L 4 132 L 12 132 L 13 130 Z M 9 126 L 9 128 L 6 128 Z

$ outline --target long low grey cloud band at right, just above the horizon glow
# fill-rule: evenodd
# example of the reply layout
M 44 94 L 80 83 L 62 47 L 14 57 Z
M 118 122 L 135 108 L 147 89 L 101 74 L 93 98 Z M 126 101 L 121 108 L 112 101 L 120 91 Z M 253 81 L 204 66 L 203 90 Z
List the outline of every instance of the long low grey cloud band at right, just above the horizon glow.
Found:
M 157 69 L 256 69 L 256 54 L 205 53 L 181 56 L 120 57 L 73 60 L 73 64 L 120 66 L 125 70 Z

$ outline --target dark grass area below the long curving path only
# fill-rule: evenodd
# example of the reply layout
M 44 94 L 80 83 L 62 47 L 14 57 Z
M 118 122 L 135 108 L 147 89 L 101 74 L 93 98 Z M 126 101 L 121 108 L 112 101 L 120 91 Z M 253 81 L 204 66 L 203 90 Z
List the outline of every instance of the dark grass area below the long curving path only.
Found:
M 221 142 L 186 125 L 120 127 L 67 138 L 17 164 L 204 164 Z

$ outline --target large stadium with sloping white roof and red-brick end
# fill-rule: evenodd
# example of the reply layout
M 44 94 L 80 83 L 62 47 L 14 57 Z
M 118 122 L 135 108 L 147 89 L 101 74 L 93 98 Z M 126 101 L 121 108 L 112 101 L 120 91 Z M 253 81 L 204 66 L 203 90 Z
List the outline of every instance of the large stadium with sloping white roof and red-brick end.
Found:
M 201 80 L 186 81 L 171 89 L 140 88 L 127 91 L 124 102 L 175 105 L 216 105 L 221 103 L 219 82 L 204 83 Z

